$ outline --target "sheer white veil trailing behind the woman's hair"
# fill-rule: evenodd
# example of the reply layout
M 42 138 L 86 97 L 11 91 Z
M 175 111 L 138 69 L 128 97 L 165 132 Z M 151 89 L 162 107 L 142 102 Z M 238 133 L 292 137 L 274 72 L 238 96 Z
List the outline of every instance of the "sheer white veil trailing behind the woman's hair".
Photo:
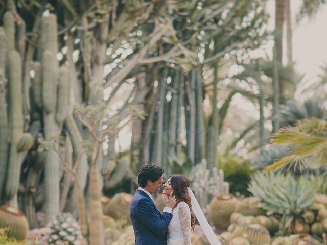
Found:
M 205 218 L 204 213 L 200 207 L 200 204 L 198 203 L 198 200 L 196 200 L 196 197 L 193 194 L 193 191 L 190 188 L 188 188 L 188 191 L 191 198 L 192 211 L 195 217 L 197 218 L 202 230 L 204 231 L 204 234 L 208 238 L 210 245 L 221 245 L 215 232 L 209 225 L 208 220 Z

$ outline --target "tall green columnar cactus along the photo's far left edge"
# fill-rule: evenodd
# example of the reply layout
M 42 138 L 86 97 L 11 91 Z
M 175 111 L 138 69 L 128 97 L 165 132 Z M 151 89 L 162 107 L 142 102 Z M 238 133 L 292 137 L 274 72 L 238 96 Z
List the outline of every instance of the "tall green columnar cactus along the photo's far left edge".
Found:
M 7 11 L 3 16 L 3 23 L 4 29 L 0 30 L 0 159 L 3 166 L 2 173 L 7 177 L 4 192 L 5 202 L 9 206 L 17 208 L 20 167 L 32 142 L 29 134 L 23 135 L 22 61 L 20 54 L 24 55 L 25 53 L 25 23 L 17 14 L 15 3 L 12 0 L 7 1 Z M 17 26 L 17 30 L 15 26 Z M 19 52 L 15 49 L 16 40 Z M 5 95 L 6 81 L 8 81 L 7 95 Z M 6 101 L 9 116 L 4 113 Z M 7 156 L 8 147 L 9 155 Z M 7 164 L 8 167 L 6 167 Z M 5 178 L 1 177 L 1 179 L 0 188 L 2 190 Z

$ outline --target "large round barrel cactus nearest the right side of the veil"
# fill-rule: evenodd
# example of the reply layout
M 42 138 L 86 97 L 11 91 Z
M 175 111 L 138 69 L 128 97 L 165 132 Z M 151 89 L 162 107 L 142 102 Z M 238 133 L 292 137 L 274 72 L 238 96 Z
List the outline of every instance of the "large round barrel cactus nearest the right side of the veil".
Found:
M 235 212 L 239 200 L 232 194 L 222 194 L 210 202 L 209 218 L 218 229 L 226 229 L 230 224 L 230 215 Z

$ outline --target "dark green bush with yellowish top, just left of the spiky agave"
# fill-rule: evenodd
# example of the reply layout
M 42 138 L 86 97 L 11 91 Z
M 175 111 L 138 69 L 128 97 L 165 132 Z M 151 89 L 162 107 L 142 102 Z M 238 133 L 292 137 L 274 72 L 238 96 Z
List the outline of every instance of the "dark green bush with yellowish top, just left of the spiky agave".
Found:
M 249 195 L 247 185 L 254 173 L 250 162 L 233 156 L 225 156 L 220 157 L 219 168 L 224 171 L 224 181 L 229 183 L 230 193 L 239 192 L 245 196 Z

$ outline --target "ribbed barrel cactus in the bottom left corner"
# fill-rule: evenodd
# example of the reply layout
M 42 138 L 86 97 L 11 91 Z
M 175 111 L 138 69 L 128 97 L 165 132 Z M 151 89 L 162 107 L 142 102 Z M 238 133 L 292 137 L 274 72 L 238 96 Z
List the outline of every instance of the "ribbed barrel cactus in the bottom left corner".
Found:
M 8 237 L 25 240 L 29 225 L 21 210 L 3 205 L 0 206 L 0 229 L 5 229 Z

